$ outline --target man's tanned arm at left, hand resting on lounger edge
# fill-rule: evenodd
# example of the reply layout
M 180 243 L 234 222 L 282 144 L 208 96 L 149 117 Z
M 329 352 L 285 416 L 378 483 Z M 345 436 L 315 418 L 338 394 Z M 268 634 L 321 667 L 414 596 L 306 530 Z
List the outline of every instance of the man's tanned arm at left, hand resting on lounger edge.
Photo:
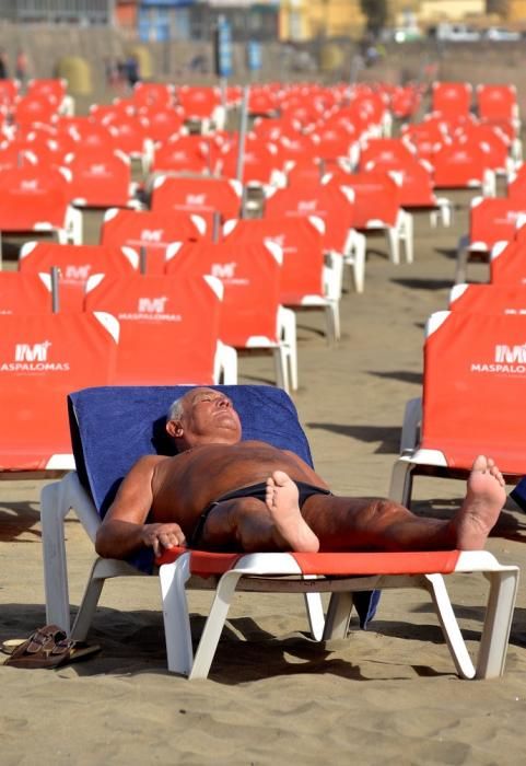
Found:
M 156 455 L 141 457 L 124 478 L 98 527 L 95 550 L 103 558 L 127 558 L 142 546 L 159 556 L 164 548 L 184 545 L 178 524 L 145 524 L 153 502 L 152 478 Z

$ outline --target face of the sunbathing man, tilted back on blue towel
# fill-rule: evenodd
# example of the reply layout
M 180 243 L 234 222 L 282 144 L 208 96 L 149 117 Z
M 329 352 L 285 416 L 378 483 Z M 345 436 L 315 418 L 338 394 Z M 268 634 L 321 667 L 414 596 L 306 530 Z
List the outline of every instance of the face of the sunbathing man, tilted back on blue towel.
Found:
M 183 399 L 180 425 L 190 445 L 235 444 L 241 439 L 241 421 L 231 399 L 221 391 L 194 388 Z

